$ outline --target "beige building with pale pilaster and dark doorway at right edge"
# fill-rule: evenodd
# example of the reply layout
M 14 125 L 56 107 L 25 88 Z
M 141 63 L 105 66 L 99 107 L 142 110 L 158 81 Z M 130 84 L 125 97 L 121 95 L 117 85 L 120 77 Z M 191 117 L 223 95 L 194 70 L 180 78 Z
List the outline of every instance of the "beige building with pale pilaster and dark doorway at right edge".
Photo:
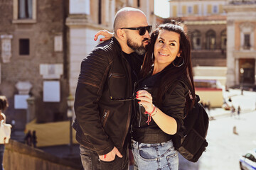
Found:
M 230 1 L 227 12 L 227 86 L 255 88 L 256 1 Z

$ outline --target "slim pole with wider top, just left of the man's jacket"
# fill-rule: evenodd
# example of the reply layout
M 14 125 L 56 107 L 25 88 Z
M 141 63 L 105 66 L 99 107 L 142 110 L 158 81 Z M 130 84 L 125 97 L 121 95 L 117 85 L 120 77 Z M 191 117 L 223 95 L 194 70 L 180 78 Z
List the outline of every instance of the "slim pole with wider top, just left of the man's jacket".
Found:
M 67 97 L 67 103 L 68 103 L 67 117 L 70 120 L 70 155 L 71 155 L 73 154 L 72 122 L 73 122 L 73 106 L 74 106 L 74 98 L 71 94 L 70 96 Z

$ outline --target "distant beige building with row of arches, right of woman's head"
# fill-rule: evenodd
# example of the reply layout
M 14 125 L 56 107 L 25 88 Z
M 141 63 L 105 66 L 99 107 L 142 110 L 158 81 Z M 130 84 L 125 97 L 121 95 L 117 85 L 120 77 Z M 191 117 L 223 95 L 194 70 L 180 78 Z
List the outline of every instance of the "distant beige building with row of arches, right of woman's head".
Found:
M 225 0 L 172 0 L 170 18 L 179 18 L 191 38 L 193 66 L 226 64 L 226 13 Z

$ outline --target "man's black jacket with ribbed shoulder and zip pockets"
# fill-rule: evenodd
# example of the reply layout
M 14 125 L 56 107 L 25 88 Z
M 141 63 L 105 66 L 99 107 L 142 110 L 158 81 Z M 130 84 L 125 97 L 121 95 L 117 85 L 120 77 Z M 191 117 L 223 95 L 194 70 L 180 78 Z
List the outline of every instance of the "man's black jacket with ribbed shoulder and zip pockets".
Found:
M 84 60 L 75 93 L 76 140 L 99 155 L 114 147 L 122 152 L 132 115 L 129 63 L 112 38 L 97 45 Z

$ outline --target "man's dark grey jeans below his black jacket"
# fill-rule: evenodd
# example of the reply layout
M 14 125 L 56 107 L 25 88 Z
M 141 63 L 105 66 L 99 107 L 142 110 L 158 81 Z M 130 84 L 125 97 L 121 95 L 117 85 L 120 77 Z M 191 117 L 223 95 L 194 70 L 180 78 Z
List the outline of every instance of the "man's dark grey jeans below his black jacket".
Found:
M 122 151 L 122 158 L 115 157 L 112 162 L 103 162 L 99 159 L 97 152 L 87 149 L 80 145 L 80 157 L 82 166 L 86 170 L 128 170 L 129 152 L 128 147 Z

